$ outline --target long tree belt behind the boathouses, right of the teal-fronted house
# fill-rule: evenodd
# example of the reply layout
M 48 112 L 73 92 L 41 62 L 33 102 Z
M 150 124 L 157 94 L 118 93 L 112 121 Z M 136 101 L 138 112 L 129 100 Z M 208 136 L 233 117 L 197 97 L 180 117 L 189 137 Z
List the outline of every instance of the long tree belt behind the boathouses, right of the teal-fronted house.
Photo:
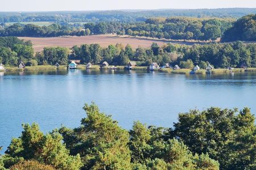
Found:
M 113 65 L 126 65 L 129 60 L 137 61 L 137 65 L 148 66 L 152 62 L 160 65 L 170 63 L 179 64 L 181 68 L 193 68 L 200 65 L 207 67 L 210 63 L 215 68 L 240 67 L 245 63 L 248 67 L 256 67 L 256 44 L 241 42 L 227 44 L 203 45 L 172 45 L 159 47 L 153 43 L 150 48 L 133 50 L 130 45 L 109 45 L 107 48 L 99 44 L 84 44 L 72 48 L 71 59 L 81 59 L 82 63 L 98 64 L 107 61 Z

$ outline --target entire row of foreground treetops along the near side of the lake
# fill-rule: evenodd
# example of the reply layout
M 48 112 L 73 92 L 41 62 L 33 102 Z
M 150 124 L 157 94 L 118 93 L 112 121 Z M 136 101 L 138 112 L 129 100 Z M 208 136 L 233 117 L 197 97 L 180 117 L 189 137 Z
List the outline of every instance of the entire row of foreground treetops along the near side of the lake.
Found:
M 255 169 L 256 126 L 250 109 L 190 110 L 172 128 L 134 122 L 118 126 L 95 103 L 76 128 L 44 134 L 23 124 L 0 156 L 0 169 Z M 26 170 L 27 170 L 26 169 Z

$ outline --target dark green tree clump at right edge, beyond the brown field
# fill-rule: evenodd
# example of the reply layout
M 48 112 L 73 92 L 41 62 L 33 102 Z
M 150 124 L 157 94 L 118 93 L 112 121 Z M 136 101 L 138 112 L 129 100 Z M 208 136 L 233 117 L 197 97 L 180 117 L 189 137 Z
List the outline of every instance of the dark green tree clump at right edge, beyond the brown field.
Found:
M 256 15 L 246 15 L 238 19 L 233 27 L 226 30 L 222 36 L 223 42 L 237 40 L 255 41 L 256 40 Z

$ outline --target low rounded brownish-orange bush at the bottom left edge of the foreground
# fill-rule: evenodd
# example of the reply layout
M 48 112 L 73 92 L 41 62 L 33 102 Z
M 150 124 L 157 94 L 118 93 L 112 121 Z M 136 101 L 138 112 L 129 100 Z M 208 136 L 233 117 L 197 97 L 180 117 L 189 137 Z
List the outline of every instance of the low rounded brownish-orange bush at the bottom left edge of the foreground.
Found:
M 44 165 L 35 160 L 21 161 L 18 164 L 13 165 L 10 170 L 55 170 L 50 165 Z

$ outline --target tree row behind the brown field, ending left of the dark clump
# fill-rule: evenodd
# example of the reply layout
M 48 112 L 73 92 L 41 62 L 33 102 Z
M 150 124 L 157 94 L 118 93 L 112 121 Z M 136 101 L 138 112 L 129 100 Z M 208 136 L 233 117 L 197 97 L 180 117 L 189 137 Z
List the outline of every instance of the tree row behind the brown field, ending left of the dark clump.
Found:
M 232 19 L 149 18 L 145 22 L 86 23 L 91 34 L 146 36 L 165 39 L 216 40 L 232 26 Z

